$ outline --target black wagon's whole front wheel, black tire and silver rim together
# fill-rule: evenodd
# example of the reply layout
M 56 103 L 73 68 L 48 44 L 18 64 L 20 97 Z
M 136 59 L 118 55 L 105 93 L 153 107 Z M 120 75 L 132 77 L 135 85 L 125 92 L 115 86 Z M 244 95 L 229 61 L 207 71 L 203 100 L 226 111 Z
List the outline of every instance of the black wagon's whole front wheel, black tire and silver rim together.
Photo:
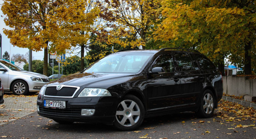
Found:
M 114 126 L 120 131 L 132 131 L 142 124 L 144 117 L 144 105 L 140 99 L 126 95 L 118 104 Z

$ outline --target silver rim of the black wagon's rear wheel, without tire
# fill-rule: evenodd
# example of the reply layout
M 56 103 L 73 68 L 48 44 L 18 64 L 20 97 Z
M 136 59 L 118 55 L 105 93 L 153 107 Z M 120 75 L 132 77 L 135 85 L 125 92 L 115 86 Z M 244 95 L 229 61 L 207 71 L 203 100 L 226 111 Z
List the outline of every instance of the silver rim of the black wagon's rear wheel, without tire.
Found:
M 210 93 L 204 95 L 203 109 L 206 114 L 211 114 L 213 110 L 213 96 Z

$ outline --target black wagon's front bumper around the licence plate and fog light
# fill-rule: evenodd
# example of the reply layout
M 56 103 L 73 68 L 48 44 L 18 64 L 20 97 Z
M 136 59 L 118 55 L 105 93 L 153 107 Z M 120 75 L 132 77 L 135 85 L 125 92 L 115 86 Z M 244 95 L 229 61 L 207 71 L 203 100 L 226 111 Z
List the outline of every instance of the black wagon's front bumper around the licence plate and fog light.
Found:
M 115 120 L 117 97 L 76 97 L 76 98 L 53 98 L 43 97 L 43 100 L 66 101 L 65 109 L 45 108 L 42 100 L 37 100 L 38 114 L 50 119 L 90 122 L 111 123 Z M 95 109 L 91 116 L 81 115 L 81 109 Z

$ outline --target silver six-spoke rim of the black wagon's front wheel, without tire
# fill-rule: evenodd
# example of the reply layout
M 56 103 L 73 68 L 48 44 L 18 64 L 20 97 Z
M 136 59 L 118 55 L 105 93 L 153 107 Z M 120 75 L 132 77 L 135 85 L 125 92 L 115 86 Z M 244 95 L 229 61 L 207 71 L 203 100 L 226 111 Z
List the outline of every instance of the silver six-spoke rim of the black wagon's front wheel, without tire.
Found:
M 140 118 L 140 108 L 138 104 L 132 100 L 123 100 L 118 104 L 116 111 L 116 120 L 119 124 L 130 127 L 135 125 Z

